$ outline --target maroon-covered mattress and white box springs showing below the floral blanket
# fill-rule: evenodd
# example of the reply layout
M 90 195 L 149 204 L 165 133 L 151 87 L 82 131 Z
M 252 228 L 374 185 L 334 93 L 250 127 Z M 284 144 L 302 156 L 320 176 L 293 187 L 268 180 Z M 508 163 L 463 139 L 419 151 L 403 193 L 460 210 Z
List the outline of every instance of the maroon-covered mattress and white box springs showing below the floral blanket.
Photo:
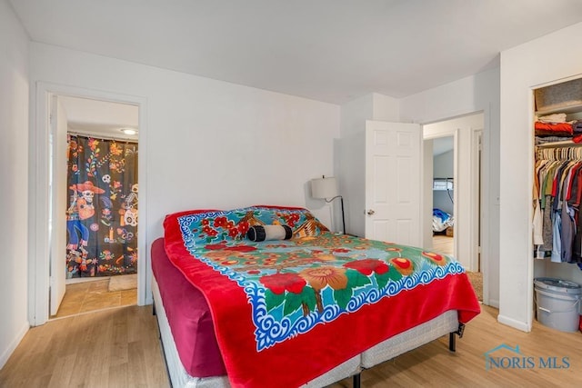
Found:
M 151 257 L 154 303 L 172 385 L 184 388 L 230 386 L 206 300 L 169 262 L 163 238 L 152 244 Z M 376 344 L 307 383 L 305 387 L 326 386 L 355 375 L 362 368 L 373 367 L 454 332 L 457 325 L 457 311 L 447 311 Z

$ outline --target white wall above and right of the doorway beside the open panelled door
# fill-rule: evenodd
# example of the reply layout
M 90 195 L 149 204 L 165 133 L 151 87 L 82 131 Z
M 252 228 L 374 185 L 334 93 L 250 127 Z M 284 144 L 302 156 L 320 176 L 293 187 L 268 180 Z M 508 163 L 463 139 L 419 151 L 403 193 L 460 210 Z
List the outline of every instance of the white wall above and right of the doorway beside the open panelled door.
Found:
M 402 122 L 434 123 L 482 111 L 483 186 L 481 220 L 484 303 L 499 304 L 499 69 L 462 78 L 399 101 Z

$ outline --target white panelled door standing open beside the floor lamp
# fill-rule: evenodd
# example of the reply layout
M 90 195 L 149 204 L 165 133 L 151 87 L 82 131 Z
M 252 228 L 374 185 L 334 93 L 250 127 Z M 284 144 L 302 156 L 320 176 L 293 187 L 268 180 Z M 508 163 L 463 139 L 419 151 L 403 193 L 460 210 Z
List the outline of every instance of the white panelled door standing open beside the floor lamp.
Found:
M 366 121 L 366 238 L 420 246 L 419 124 Z

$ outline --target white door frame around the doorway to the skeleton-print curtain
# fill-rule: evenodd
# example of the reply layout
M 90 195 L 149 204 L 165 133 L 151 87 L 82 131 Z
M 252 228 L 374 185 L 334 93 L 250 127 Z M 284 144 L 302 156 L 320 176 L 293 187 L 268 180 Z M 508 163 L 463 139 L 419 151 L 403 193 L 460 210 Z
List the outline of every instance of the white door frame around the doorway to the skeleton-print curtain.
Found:
M 137 247 L 139 262 L 137 265 L 137 304 L 151 303 L 147 295 L 146 270 L 149 267 L 147 254 L 146 228 L 146 97 L 137 95 L 120 95 L 113 92 L 86 89 L 69 85 L 58 85 L 42 81 L 35 83 L 35 110 L 31 112 L 29 133 L 29 198 L 28 198 L 28 320 L 32 326 L 46 323 L 49 318 L 49 252 L 48 239 L 49 203 L 52 198 L 49 193 L 50 150 L 49 137 L 52 134 L 49 121 L 50 99 L 52 95 L 68 95 L 80 98 L 90 98 L 111 103 L 133 104 L 139 110 L 139 162 L 138 182 L 140 185 L 138 208 L 139 224 L 137 225 Z M 65 227 L 65 221 L 63 222 Z

